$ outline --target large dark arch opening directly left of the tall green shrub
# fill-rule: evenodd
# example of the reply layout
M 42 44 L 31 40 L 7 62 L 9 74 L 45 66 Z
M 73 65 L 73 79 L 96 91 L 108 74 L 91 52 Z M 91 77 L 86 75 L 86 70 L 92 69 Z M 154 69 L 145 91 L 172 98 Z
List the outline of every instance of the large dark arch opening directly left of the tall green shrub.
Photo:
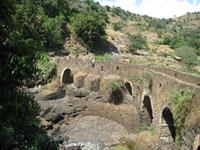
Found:
M 173 114 L 172 114 L 171 110 L 169 109 L 169 107 L 165 107 L 162 110 L 161 123 L 162 123 L 162 125 L 167 125 L 167 127 L 168 127 L 168 129 L 170 131 L 171 137 L 175 141 L 175 138 L 176 138 L 176 127 L 174 126 Z

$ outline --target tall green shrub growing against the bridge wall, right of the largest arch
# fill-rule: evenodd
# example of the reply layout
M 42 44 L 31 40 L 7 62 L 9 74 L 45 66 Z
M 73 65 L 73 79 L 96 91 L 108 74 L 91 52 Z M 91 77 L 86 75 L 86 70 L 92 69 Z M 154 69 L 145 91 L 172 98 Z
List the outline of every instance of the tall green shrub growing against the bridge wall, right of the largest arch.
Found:
M 193 92 L 189 89 L 173 88 L 170 93 L 171 107 L 174 112 L 176 127 L 176 143 L 180 145 L 182 129 L 185 127 L 185 117 L 188 112 L 188 103 L 193 97 Z

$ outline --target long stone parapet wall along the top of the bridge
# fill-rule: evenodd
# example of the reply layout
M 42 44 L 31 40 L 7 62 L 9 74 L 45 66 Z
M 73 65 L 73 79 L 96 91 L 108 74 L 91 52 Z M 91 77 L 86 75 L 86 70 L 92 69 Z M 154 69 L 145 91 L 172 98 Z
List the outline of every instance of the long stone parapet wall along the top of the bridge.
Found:
M 83 61 L 79 59 L 60 59 L 57 70 L 58 77 L 60 77 L 62 70 L 66 67 L 72 68 L 75 71 L 84 71 L 98 75 L 118 74 L 126 77 L 133 74 L 140 75 L 144 74 L 145 72 L 151 73 L 155 71 L 166 74 L 181 81 L 200 86 L 200 77 L 178 72 L 169 68 L 132 65 L 117 62 L 95 62 L 93 65 L 91 61 Z

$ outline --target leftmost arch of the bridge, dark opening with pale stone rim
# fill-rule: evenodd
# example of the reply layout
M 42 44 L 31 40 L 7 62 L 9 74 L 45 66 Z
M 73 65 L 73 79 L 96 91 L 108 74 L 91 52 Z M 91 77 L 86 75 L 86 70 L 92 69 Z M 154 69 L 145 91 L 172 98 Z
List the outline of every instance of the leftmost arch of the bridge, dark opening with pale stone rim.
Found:
M 72 84 L 74 82 L 74 74 L 70 68 L 65 68 L 61 74 L 62 84 Z

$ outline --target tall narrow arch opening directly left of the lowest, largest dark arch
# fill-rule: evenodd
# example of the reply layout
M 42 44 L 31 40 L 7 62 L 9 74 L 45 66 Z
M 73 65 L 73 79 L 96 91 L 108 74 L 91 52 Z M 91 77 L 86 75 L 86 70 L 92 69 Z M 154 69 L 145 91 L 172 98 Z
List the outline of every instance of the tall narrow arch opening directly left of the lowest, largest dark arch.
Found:
M 142 122 L 150 125 L 153 122 L 153 109 L 151 99 L 148 95 L 144 96 L 142 105 Z

